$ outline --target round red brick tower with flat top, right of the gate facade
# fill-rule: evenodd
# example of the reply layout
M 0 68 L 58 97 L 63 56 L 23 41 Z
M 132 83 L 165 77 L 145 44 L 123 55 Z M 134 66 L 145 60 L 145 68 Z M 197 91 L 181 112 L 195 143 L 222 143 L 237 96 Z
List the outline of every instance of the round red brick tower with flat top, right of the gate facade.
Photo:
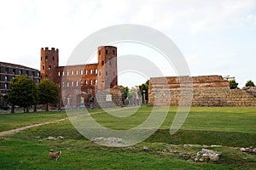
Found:
M 97 88 L 113 88 L 118 84 L 117 78 L 117 48 L 102 46 L 98 48 Z

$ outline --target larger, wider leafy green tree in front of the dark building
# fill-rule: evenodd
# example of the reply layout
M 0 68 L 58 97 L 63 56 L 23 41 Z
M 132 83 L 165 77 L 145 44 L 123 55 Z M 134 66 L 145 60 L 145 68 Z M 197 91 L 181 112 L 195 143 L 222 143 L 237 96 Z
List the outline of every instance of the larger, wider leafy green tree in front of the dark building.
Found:
M 28 107 L 38 102 L 36 83 L 32 78 L 27 78 L 24 75 L 13 78 L 10 83 L 7 100 L 12 104 L 12 113 L 15 112 L 14 105 L 20 105 L 20 107 L 23 107 L 24 112 L 28 112 Z

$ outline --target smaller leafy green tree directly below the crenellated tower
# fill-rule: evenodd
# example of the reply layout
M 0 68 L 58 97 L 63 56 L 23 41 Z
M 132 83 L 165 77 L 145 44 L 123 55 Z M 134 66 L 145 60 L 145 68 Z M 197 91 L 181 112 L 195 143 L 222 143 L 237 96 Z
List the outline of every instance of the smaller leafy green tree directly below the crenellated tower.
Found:
M 40 103 L 46 105 L 48 111 L 49 104 L 56 104 L 59 102 L 60 88 L 55 83 L 50 82 L 49 79 L 44 79 L 38 85 Z

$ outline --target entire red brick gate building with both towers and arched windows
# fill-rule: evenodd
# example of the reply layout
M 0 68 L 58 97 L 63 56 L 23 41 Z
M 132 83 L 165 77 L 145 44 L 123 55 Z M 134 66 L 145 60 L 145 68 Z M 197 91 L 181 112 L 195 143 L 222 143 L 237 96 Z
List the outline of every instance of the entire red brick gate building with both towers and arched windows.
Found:
M 59 66 L 59 49 L 41 48 L 41 80 L 48 78 L 61 89 L 61 105 L 88 105 L 96 92 L 118 85 L 117 48 L 97 49 L 98 62 Z

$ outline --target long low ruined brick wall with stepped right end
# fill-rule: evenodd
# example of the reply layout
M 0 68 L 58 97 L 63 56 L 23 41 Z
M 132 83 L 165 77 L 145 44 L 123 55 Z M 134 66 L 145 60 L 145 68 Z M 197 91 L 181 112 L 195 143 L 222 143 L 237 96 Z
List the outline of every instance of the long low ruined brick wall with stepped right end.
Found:
M 182 86 L 179 82 L 183 82 Z M 168 102 L 187 105 L 191 90 L 192 106 L 256 106 L 252 94 L 243 89 L 230 89 L 229 82 L 221 76 L 150 78 L 148 105 L 168 105 Z M 180 92 L 184 94 L 183 103 L 180 103 Z

